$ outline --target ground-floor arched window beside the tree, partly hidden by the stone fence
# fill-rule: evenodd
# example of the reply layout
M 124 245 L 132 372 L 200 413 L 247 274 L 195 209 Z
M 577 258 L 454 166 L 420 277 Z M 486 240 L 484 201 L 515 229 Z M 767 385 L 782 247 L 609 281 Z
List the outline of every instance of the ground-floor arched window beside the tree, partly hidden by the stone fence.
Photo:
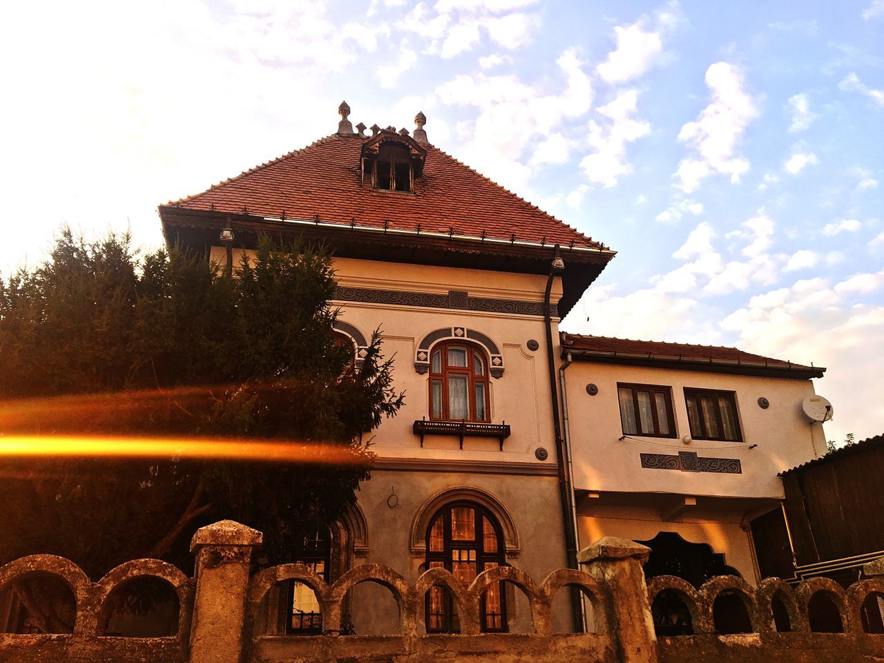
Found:
M 326 583 L 329 582 L 331 565 L 331 536 L 329 530 L 315 530 L 305 535 L 293 562 L 304 564 Z M 322 633 L 323 613 L 316 594 L 306 584 L 292 581 L 286 592 L 286 633 L 310 635 Z

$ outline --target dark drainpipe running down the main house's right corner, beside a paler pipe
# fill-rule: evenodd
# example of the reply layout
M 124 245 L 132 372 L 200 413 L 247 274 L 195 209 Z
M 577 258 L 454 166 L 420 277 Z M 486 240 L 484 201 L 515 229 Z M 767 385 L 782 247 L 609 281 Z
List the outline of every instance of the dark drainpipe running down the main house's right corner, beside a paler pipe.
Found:
M 550 315 L 550 293 L 552 293 L 552 280 L 565 271 L 565 261 L 559 255 L 559 245 L 555 246 L 555 253 L 550 265 L 550 276 L 546 280 L 544 292 L 544 322 L 546 332 L 546 361 L 549 365 L 550 377 L 550 403 L 552 404 L 552 427 L 555 435 L 555 453 L 559 470 L 559 497 L 561 500 L 562 524 L 565 531 L 565 554 L 569 568 L 577 566 L 577 541 L 574 530 L 574 491 L 568 476 L 568 461 L 565 456 L 565 443 L 561 435 L 561 423 L 559 419 L 559 393 L 556 388 L 555 376 L 555 352 L 552 347 L 552 316 Z M 571 594 L 571 618 L 576 633 L 583 631 L 583 610 L 581 593 L 575 587 L 570 588 Z

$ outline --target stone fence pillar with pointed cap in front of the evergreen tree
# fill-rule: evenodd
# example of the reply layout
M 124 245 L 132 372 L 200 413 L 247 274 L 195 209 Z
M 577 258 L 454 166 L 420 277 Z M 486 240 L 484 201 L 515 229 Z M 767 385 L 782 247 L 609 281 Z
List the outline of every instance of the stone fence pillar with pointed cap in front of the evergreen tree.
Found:
M 246 634 L 248 563 L 263 534 L 239 522 L 196 530 L 196 594 L 190 627 L 190 663 L 240 663 Z

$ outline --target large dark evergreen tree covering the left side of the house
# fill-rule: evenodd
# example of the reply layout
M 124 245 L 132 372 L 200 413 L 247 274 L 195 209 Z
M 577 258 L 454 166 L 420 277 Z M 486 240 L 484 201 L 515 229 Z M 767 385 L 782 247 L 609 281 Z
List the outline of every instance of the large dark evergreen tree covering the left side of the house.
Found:
M 268 561 L 339 519 L 369 478 L 363 433 L 400 408 L 377 331 L 357 368 L 333 334 L 324 250 L 261 238 L 235 277 L 179 249 L 65 229 L 39 268 L 0 278 L 0 435 L 236 439 L 243 460 L 11 458 L 0 467 L 0 563 L 64 555 L 96 578 L 122 561 L 187 568 L 195 527 L 265 535 Z M 292 460 L 255 459 L 277 440 Z M 130 446 L 126 449 L 126 446 Z

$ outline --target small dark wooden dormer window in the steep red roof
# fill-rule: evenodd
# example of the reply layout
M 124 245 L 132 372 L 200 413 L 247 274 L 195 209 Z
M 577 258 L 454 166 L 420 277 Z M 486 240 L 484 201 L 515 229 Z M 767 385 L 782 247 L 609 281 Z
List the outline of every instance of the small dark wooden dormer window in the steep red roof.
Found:
M 426 150 L 410 136 L 382 129 L 362 146 L 362 186 L 412 191 L 425 157 Z

